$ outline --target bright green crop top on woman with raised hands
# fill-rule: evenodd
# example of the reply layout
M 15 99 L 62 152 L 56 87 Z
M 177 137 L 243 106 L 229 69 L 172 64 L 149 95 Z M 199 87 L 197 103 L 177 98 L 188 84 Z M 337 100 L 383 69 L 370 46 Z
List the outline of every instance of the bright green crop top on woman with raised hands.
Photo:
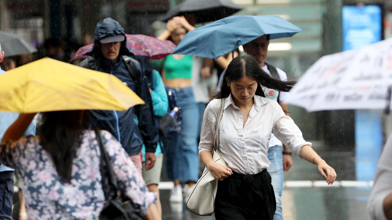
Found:
M 166 56 L 165 62 L 163 63 L 163 69 L 165 70 L 165 79 L 191 79 L 192 65 L 193 57 L 190 55 L 185 55 L 180 60 L 174 59 L 173 55 Z

